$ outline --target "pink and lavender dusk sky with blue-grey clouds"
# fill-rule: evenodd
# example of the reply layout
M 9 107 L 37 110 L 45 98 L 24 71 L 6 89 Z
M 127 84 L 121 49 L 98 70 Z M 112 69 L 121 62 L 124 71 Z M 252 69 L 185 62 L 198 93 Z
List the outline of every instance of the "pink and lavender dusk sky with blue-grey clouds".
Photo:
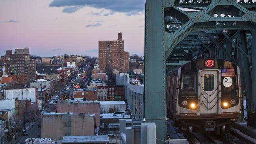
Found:
M 30 48 L 42 57 L 98 56 L 98 41 L 117 40 L 144 55 L 145 0 L 1 0 L 0 55 Z

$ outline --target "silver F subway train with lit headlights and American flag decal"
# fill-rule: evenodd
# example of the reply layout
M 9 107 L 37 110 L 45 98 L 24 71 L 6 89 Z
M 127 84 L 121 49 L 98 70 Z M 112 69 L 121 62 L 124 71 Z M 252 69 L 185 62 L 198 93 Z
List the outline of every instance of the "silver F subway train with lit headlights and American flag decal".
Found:
M 167 72 L 167 116 L 182 131 L 222 134 L 241 116 L 239 67 L 223 59 L 199 59 Z

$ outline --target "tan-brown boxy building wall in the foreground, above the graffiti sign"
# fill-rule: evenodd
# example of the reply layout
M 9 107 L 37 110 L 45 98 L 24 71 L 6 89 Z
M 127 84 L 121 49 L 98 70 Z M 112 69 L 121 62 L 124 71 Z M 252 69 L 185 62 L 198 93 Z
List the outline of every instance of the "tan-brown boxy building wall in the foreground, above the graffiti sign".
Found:
M 93 115 L 42 114 L 41 137 L 60 140 L 63 136 L 94 135 Z

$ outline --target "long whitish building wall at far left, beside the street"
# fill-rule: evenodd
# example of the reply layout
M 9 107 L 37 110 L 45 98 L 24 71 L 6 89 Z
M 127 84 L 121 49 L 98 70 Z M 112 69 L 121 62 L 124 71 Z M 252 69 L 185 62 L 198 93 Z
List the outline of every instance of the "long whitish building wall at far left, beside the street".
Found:
M 18 100 L 30 99 L 32 103 L 35 103 L 36 93 L 35 88 L 6 90 L 6 98 L 19 98 Z

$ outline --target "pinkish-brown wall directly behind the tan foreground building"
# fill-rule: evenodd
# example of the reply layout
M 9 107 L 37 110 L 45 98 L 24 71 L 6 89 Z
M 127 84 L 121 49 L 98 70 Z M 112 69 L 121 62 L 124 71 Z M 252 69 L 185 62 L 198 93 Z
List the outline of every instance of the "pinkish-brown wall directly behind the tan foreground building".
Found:
M 86 113 L 95 114 L 96 130 L 100 129 L 100 103 L 99 102 L 58 102 L 58 113 Z

